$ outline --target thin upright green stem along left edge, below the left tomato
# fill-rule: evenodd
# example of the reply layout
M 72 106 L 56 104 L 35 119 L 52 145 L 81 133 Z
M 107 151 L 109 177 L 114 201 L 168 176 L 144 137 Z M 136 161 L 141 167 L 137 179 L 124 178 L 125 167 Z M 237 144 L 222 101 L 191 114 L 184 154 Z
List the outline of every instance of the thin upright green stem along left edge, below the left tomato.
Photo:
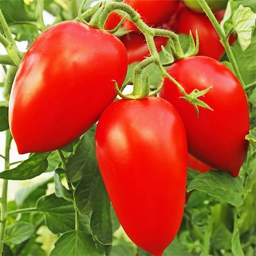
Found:
M 10 130 L 6 130 L 5 142 L 5 170 L 10 167 Z M 3 245 L 5 241 L 6 213 L 7 213 L 7 191 L 8 180 L 3 180 L 2 197 L 1 197 L 1 218 L 0 218 L 0 255 L 3 255 Z

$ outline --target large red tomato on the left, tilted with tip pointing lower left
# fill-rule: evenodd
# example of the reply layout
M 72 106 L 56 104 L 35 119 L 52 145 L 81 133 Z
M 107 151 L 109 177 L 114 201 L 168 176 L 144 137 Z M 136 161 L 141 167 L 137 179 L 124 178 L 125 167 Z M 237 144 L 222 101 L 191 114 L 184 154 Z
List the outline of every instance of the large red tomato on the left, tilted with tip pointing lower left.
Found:
M 104 42 L 104 44 L 102 44 Z M 10 96 L 10 129 L 20 154 L 63 147 L 84 133 L 116 97 L 127 54 L 112 34 L 65 21 L 28 49 Z

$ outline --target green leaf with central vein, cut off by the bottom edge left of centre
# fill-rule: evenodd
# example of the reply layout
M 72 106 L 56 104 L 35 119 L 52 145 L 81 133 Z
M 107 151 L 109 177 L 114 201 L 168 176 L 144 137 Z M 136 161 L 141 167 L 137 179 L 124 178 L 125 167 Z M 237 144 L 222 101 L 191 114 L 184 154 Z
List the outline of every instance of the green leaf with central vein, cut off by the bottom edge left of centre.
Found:
M 89 233 L 69 231 L 60 236 L 50 256 L 100 256 Z

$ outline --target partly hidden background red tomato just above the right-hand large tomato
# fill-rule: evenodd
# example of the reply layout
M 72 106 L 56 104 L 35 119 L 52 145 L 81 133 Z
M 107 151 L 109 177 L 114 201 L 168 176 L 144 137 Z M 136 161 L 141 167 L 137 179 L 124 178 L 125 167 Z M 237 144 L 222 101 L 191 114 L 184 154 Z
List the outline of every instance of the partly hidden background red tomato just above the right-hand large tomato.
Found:
M 218 19 L 220 19 L 220 16 L 218 16 Z M 184 7 L 177 14 L 174 26 L 179 34 L 189 35 L 189 30 L 191 30 L 194 38 L 197 30 L 199 34 L 198 55 L 209 56 L 220 60 L 221 56 L 224 54 L 225 49 L 220 42 L 220 37 L 205 14 L 196 13 Z M 230 43 L 233 42 L 234 38 Z

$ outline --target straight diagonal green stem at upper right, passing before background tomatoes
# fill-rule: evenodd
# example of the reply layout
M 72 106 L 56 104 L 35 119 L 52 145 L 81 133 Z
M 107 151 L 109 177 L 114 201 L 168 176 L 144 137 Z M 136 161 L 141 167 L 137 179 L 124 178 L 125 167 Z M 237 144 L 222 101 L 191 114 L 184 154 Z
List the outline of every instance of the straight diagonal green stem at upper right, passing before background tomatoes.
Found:
M 232 49 L 229 45 L 228 38 L 226 38 L 225 32 L 222 30 L 220 24 L 218 23 L 217 19 L 215 18 L 214 14 L 212 13 L 212 10 L 210 10 L 210 7 L 208 6 L 207 2 L 205 0 L 197 0 L 197 1 L 199 2 L 201 7 L 203 8 L 205 14 L 208 16 L 210 22 L 212 22 L 213 27 L 215 28 L 216 32 L 220 36 L 221 43 L 225 48 L 226 55 L 228 56 L 228 59 L 229 59 L 230 63 L 232 64 L 234 73 L 237 76 L 238 80 L 240 80 L 242 86 L 244 87 L 245 82 L 242 79 L 240 70 L 238 68 L 236 59 L 233 55 Z

